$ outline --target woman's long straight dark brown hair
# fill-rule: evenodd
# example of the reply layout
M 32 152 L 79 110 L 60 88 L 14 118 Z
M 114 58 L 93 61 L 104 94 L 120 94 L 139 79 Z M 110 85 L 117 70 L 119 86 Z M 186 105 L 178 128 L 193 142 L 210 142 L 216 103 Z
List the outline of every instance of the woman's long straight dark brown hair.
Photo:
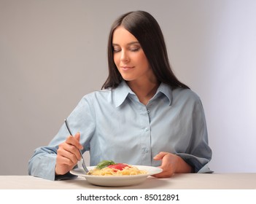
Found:
M 187 85 L 179 82 L 168 60 L 166 43 L 158 22 L 152 15 L 144 11 L 128 12 L 121 15 L 112 25 L 108 42 L 109 76 L 104 82 L 102 89 L 117 87 L 123 78 L 115 66 L 113 58 L 112 36 L 118 26 L 123 26 L 141 44 L 141 48 L 147 57 L 153 73 L 159 82 L 169 85 L 171 88 L 184 87 Z

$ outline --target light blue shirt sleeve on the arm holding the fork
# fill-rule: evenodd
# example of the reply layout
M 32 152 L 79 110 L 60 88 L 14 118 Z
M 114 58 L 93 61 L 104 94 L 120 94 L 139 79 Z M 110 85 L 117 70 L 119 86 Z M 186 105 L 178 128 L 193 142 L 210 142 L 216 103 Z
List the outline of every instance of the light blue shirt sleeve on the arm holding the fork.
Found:
M 94 116 L 91 110 L 90 103 L 84 97 L 68 117 L 69 126 L 73 134 L 77 132 L 81 134 L 80 143 L 84 146 L 82 153 L 90 149 L 90 137 L 95 130 Z M 69 136 L 69 132 L 63 123 L 61 129 L 48 146 L 41 146 L 35 149 L 34 154 L 28 161 L 28 174 L 52 181 L 76 177 L 71 173 L 55 176 L 58 145 L 65 141 L 67 136 Z

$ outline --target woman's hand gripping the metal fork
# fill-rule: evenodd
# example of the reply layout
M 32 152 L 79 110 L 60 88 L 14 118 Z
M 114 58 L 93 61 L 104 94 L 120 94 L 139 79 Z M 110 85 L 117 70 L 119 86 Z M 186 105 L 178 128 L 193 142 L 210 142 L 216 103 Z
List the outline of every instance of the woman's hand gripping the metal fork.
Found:
M 83 146 L 79 141 L 80 133 L 77 133 L 75 136 L 66 138 L 66 141 L 58 146 L 55 175 L 68 173 L 81 160 L 79 149 L 83 149 Z

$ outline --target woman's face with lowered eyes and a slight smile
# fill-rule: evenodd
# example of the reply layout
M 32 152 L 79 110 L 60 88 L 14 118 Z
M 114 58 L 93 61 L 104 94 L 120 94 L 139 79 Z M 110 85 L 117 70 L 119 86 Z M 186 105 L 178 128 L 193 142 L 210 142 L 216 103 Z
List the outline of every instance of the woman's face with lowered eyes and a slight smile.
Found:
M 155 78 L 150 64 L 138 40 L 123 26 L 115 29 L 112 36 L 115 65 L 128 82 L 143 82 Z

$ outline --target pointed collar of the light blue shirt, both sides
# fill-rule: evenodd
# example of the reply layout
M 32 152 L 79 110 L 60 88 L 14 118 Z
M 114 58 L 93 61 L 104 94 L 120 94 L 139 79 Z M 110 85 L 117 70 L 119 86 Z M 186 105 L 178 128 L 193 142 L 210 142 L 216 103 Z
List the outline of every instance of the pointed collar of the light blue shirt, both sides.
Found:
M 171 105 L 171 100 L 172 100 L 171 88 L 168 85 L 161 83 L 160 86 L 158 87 L 157 92 L 155 93 L 155 96 L 158 95 L 159 93 L 163 93 L 164 95 L 166 95 L 169 101 L 169 105 Z M 114 92 L 115 106 L 116 107 L 120 106 L 125 101 L 125 99 L 129 94 L 135 95 L 135 93 L 133 93 L 133 91 L 126 84 L 125 81 L 121 82 L 120 85 L 118 85 L 118 87 L 115 88 L 115 92 Z M 155 96 L 153 98 L 155 98 Z

